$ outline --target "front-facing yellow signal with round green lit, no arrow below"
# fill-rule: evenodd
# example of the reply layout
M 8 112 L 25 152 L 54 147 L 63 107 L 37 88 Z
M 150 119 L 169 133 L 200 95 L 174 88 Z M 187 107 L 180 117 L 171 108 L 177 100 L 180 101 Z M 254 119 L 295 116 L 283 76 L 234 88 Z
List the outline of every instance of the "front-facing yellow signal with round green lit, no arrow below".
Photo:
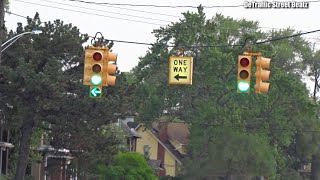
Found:
M 250 93 L 251 62 L 252 56 L 238 56 L 238 93 Z

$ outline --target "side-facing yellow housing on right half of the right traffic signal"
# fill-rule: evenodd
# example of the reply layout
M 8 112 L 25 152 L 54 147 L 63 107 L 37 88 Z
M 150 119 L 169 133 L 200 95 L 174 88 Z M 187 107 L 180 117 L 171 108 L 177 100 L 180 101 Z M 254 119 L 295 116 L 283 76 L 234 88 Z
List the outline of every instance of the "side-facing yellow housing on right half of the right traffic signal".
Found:
M 270 71 L 264 70 L 270 68 L 271 59 L 258 56 L 256 60 L 256 84 L 254 85 L 255 92 L 258 94 L 267 93 L 270 89 L 270 83 L 263 82 L 270 79 Z

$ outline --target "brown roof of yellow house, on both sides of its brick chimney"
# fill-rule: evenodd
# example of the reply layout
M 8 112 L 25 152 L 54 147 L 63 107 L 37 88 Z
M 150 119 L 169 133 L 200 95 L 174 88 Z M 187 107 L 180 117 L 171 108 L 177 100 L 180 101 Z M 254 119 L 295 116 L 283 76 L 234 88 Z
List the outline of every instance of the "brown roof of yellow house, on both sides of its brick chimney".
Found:
M 152 123 L 152 127 L 159 131 L 159 123 Z M 180 144 L 186 145 L 188 144 L 188 136 L 190 134 L 188 125 L 185 123 L 168 123 L 167 129 L 168 137 L 176 140 Z

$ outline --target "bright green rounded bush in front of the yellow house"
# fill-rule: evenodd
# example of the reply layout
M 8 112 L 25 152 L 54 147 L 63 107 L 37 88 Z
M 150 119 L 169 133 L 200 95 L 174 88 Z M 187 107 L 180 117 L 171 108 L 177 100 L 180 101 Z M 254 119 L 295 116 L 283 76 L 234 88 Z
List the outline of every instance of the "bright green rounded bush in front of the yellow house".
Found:
M 97 173 L 101 180 L 128 179 L 128 180 L 155 180 L 157 179 L 152 168 L 143 155 L 134 152 L 120 153 L 115 156 L 111 165 L 98 165 Z

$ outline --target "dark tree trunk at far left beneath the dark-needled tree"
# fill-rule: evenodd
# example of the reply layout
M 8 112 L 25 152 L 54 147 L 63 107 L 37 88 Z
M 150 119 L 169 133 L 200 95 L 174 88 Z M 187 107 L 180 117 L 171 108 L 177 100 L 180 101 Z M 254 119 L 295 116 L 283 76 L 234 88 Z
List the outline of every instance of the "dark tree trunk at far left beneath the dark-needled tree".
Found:
M 19 146 L 19 158 L 16 169 L 15 180 L 24 180 L 25 172 L 28 165 L 29 149 L 31 143 L 31 137 L 34 127 L 34 114 L 30 111 L 29 108 L 26 108 L 26 111 L 23 116 L 22 123 L 22 133 L 20 138 Z

